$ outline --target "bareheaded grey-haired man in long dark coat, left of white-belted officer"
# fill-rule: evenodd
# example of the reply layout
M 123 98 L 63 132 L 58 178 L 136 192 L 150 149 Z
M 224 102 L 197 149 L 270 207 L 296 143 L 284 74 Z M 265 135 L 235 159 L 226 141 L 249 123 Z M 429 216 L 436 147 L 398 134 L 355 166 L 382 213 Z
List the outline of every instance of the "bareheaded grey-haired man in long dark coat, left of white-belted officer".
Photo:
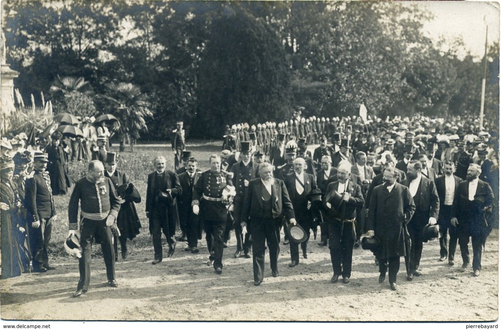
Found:
M 162 232 L 167 239 L 169 252 L 174 254 L 176 247 L 176 217 L 177 209 L 174 198 L 181 194 L 181 185 L 176 173 L 165 169 L 165 158 L 156 157 L 153 161 L 155 171 L 148 175 L 146 188 L 146 217 L 149 218 L 150 233 L 153 238 L 155 259 L 152 264 L 162 261 Z

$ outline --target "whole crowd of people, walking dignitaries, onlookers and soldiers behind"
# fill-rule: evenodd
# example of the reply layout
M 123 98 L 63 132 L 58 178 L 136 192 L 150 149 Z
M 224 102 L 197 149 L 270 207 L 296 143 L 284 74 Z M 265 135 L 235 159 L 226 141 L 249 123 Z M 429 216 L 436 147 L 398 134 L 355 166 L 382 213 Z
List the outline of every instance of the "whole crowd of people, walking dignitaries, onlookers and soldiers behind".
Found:
M 310 234 L 316 238 L 320 228 L 319 245 L 328 246 L 331 255 L 332 283 L 340 277 L 350 282 L 353 248 L 362 246 L 375 255 L 379 282 L 388 273 L 396 290 L 400 258 L 407 280 L 413 280 L 421 274 L 423 242 L 434 238 L 440 240 L 439 260 L 450 266 L 459 243 L 461 268 L 467 270 L 471 237 L 472 270 L 479 275 L 482 246 L 497 220 L 498 142 L 495 129 L 477 126 L 464 117 L 329 120 L 298 112 L 290 121 L 258 124 L 257 130 L 245 123 L 228 127 L 221 153 L 210 155 L 210 168 L 200 171 L 177 122 L 174 170 L 159 156 L 147 178 L 152 264 L 164 257 L 162 233 L 166 257 L 172 257 L 179 241 L 187 241 L 185 251 L 200 252 L 205 232 L 208 262 L 220 274 L 234 231 L 233 256 L 253 258 L 254 284 L 260 285 L 266 249 L 272 275 L 279 275 L 282 230 L 289 266 L 295 267 L 299 248 L 308 258 Z M 47 256 L 57 219 L 54 195 L 71 184 L 63 136 L 54 133 L 45 149 L 30 150 L 27 139 L 24 134 L 2 139 L 2 278 L 54 268 Z M 101 244 L 109 284 L 116 287 L 117 241 L 125 259 L 127 239 L 141 228 L 134 206 L 141 196 L 117 168 L 117 154 L 107 150 L 108 136 L 97 135 L 95 142 L 87 175 L 75 183 L 68 206 L 68 239 L 79 236 L 81 250 L 75 297 L 88 290 L 92 243 Z M 319 144 L 313 153 L 312 144 Z M 299 238 L 291 233 L 295 228 L 303 232 Z

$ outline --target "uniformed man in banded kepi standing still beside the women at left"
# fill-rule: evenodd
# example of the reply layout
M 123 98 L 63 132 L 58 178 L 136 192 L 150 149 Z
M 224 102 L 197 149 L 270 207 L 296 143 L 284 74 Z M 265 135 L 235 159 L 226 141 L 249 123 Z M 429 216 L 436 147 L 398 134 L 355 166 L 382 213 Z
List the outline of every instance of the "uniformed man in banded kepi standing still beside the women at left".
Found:
M 33 255 L 33 270 L 46 272 L 54 269 L 49 265 L 47 247 L 51 240 L 52 223 L 56 220 L 56 207 L 52 196 L 51 179 L 47 170 L 47 153 L 35 152 L 35 172 L 26 181 L 25 204 L 28 211 L 30 248 Z

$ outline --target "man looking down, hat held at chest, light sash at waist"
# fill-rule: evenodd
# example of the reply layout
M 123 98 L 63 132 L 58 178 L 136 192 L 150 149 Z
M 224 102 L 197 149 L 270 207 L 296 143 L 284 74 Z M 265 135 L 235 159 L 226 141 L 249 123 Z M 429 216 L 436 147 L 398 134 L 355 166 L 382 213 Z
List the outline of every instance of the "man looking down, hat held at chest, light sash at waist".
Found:
M 343 276 L 343 283 L 350 282 L 356 209 L 364 204 L 360 186 L 349 180 L 350 170 L 349 164 L 339 166 L 338 180 L 327 186 L 324 199 L 334 271 L 331 283 L 337 282 L 339 275 Z

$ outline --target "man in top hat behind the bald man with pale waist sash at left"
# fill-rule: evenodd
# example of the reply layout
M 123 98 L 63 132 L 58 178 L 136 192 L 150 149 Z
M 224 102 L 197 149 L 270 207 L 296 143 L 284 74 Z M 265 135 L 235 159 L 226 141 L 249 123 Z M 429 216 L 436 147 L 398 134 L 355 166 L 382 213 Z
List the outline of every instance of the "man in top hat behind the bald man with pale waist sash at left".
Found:
M 134 193 L 134 187 L 129 181 L 127 175 L 117 170 L 117 153 L 108 152 L 106 154 L 106 162 L 104 176 L 108 177 L 113 183 L 113 187 L 117 190 L 117 198 L 120 200 L 120 210 L 117 215 L 118 230 L 114 230 L 113 248 L 115 250 L 115 260 L 118 257 L 117 239 L 120 240 L 122 259 L 127 258 L 127 239 L 133 239 L 139 234 L 141 222 L 137 216 L 134 202 L 141 202 L 141 196 Z M 122 197 L 123 195 L 123 197 Z M 120 235 L 117 236 L 117 233 Z

